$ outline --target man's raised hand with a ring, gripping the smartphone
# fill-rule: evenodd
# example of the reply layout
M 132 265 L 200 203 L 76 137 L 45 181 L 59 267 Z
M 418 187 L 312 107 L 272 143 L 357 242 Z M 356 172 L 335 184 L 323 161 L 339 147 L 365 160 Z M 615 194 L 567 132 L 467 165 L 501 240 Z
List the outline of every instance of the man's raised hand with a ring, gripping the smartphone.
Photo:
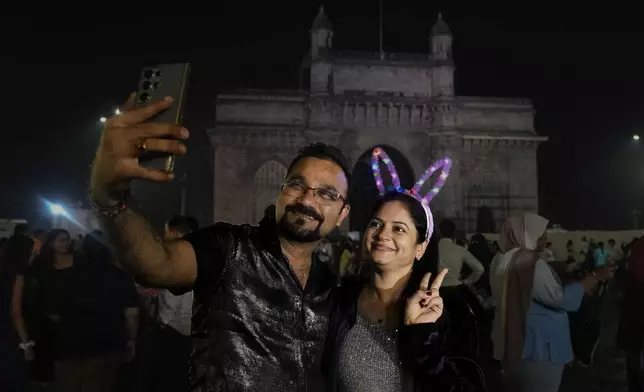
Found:
M 187 129 L 181 125 L 146 122 L 170 108 L 173 99 L 166 97 L 136 109 L 135 99 L 136 94 L 132 94 L 121 113 L 105 122 L 90 180 L 91 198 L 96 205 L 111 207 L 122 202 L 132 179 L 172 180 L 172 173 L 143 167 L 139 162 L 142 153 L 186 153 L 181 140 L 188 138 Z

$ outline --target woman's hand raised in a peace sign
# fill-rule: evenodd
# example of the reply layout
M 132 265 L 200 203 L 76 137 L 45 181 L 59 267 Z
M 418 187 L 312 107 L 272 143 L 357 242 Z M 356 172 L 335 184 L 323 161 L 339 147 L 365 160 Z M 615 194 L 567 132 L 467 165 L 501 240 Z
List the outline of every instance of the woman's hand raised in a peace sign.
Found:
M 416 294 L 407 300 L 405 308 L 405 325 L 435 323 L 443 315 L 443 299 L 439 289 L 447 275 L 447 268 L 438 273 L 434 283 L 429 286 L 432 273 L 428 272 L 420 282 Z

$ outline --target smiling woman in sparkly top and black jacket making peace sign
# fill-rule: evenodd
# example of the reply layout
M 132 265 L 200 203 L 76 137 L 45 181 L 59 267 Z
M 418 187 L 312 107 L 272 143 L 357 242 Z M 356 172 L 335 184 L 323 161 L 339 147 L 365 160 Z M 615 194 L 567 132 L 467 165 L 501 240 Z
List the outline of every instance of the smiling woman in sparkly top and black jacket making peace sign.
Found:
M 427 214 L 406 193 L 388 193 L 377 203 L 363 243 L 369 280 L 334 293 L 323 359 L 330 391 L 426 391 L 462 383 L 451 377 L 437 325 L 447 270 L 430 286 L 431 273 L 416 262 L 433 231 Z

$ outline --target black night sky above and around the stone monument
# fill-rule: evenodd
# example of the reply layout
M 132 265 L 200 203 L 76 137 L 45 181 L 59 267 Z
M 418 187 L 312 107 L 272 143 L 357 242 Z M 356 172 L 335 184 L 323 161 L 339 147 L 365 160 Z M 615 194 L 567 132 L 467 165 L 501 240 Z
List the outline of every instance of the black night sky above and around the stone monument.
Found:
M 219 3 L 186 6 L 184 16 L 9 18 L 0 51 L 0 217 L 33 216 L 38 196 L 85 199 L 98 119 L 125 99 L 145 64 L 193 63 L 186 118 L 201 129 L 214 123 L 222 89 L 297 88 L 320 4 Z M 378 50 L 376 1 L 324 5 L 336 48 Z M 457 94 L 535 105 L 537 132 L 550 137 L 539 154 L 542 214 L 569 229 L 630 228 L 629 212 L 644 211 L 644 148 L 631 140 L 644 137 L 641 12 L 439 6 L 385 1 L 385 50 L 428 52 L 442 11 L 454 33 Z

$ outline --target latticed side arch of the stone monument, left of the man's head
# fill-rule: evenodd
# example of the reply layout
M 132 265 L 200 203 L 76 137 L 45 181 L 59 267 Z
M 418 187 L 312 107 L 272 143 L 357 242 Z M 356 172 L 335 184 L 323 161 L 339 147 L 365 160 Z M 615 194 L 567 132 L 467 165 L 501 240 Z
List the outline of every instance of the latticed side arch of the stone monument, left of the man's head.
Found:
M 254 181 L 255 197 L 251 210 L 253 222 L 259 222 L 264 217 L 266 208 L 275 203 L 285 177 L 286 167 L 276 161 L 268 161 L 257 169 Z

